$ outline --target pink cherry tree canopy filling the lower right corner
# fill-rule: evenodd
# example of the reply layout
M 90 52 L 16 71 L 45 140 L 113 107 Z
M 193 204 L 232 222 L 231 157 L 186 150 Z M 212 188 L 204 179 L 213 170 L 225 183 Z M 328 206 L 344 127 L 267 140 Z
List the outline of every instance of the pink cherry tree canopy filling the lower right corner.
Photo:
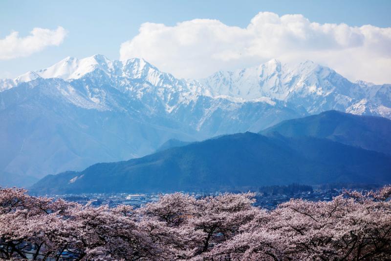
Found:
M 345 191 L 329 202 L 292 199 L 260 213 L 209 257 L 231 260 L 386 260 L 391 257 L 390 186 Z

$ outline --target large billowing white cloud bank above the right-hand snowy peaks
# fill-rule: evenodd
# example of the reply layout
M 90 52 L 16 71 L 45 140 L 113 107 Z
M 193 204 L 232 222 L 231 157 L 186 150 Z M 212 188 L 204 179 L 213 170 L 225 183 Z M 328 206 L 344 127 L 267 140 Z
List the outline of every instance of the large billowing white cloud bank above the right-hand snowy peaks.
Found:
M 350 80 L 391 82 L 391 27 L 318 24 L 302 15 L 257 14 L 246 28 L 195 19 L 174 26 L 142 24 L 120 58 L 144 58 L 177 77 L 254 66 L 277 58 L 329 66 Z

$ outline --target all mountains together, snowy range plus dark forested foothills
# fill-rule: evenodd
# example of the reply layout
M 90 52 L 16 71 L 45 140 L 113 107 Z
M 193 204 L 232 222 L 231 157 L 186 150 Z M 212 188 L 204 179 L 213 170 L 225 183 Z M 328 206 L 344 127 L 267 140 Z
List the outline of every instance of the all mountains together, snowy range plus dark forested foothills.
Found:
M 390 84 L 353 83 L 311 61 L 178 79 L 143 59 L 68 57 L 0 80 L 0 185 L 41 179 L 31 191 L 84 193 L 383 184 L 390 119 Z

